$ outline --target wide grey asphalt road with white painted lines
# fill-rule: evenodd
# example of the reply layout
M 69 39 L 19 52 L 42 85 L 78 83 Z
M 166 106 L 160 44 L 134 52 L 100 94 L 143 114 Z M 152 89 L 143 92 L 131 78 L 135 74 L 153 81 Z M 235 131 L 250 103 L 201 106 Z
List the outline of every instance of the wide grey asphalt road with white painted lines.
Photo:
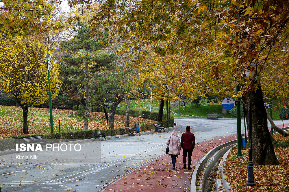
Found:
M 175 119 L 175 122 L 179 124 L 176 130 L 179 136 L 185 132 L 186 126 L 191 126 L 196 142 L 237 133 L 236 120 Z M 241 123 L 244 132 L 244 121 Z M 275 123 L 280 125 L 282 121 Z M 81 151 L 80 154 L 61 153 L 66 155 L 66 160 L 55 158 L 52 151 L 39 152 L 37 155 L 53 157 L 53 160 L 39 158 L 33 163 L 20 162 L 15 156 L 30 156 L 35 152 L 2 155 L 2 191 L 101 191 L 102 187 L 117 178 L 164 155 L 165 142 L 170 134 L 171 131 L 85 142 L 81 143 L 84 152 Z M 97 154 L 99 148 L 101 161 L 86 161 Z

